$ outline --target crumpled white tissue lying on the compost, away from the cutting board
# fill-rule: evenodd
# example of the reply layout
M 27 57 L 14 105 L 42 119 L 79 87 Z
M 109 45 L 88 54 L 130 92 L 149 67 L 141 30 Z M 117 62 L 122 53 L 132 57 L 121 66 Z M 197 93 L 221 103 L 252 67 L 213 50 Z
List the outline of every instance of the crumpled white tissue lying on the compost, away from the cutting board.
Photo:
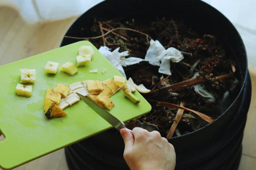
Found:
M 163 45 L 159 41 L 150 41 L 145 60 L 152 65 L 160 66 L 158 72 L 172 75 L 170 61 L 178 63 L 183 59 L 183 55 L 176 48 L 170 47 L 164 49 Z M 160 63 L 161 61 L 161 63 Z

